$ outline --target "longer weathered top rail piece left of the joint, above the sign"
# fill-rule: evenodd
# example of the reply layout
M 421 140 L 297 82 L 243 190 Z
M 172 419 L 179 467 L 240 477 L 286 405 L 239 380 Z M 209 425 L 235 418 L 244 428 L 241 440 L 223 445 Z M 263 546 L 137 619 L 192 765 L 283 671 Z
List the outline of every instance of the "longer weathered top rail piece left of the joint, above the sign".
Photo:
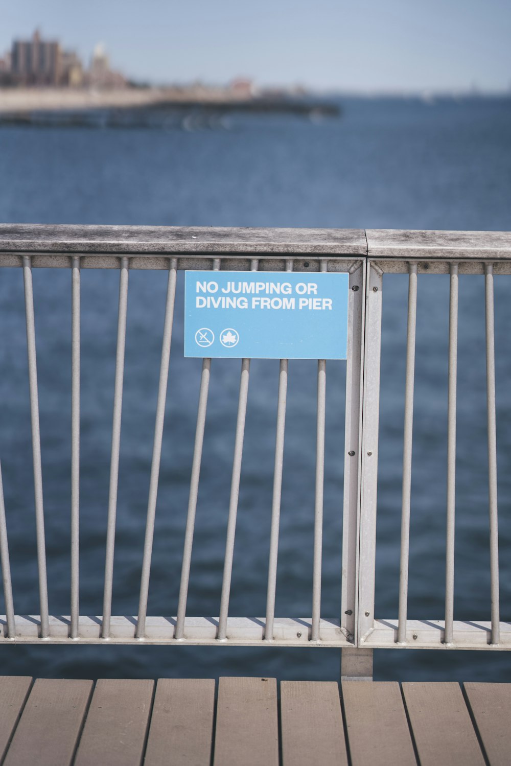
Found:
M 3 253 L 367 255 L 363 229 L 0 224 Z

